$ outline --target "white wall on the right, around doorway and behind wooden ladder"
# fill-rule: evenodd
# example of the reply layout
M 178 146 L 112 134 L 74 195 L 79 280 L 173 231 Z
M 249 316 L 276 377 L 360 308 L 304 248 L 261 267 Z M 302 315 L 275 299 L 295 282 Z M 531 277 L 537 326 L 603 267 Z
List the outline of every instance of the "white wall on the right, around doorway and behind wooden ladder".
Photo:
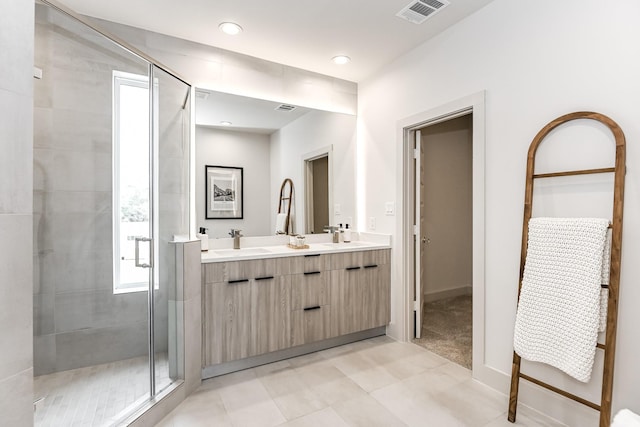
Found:
M 398 121 L 486 90 L 486 338 L 484 372 L 475 374 L 508 392 L 528 145 L 541 127 L 564 113 L 601 112 L 618 122 L 628 141 L 613 407 L 640 412 L 635 397 L 640 266 L 634 262 L 640 253 L 635 220 L 640 214 L 635 173 L 640 160 L 638 16 L 640 3 L 634 0 L 606 6 L 595 0 L 496 0 L 360 84 L 358 145 L 366 162 L 360 181 L 362 217 L 376 217 L 377 230 L 394 235 L 391 334 L 407 338 L 401 327 L 404 302 L 398 297 L 403 287 L 396 250 L 401 204 L 396 216 L 384 216 L 384 202 L 400 197 L 394 198 L 403 176 Z M 592 161 L 589 151 L 574 156 Z M 527 393 L 525 401 L 571 425 L 580 425 L 582 414 L 586 425 L 595 425 L 595 411 L 574 409 L 565 401 L 547 406 L 539 395 Z

